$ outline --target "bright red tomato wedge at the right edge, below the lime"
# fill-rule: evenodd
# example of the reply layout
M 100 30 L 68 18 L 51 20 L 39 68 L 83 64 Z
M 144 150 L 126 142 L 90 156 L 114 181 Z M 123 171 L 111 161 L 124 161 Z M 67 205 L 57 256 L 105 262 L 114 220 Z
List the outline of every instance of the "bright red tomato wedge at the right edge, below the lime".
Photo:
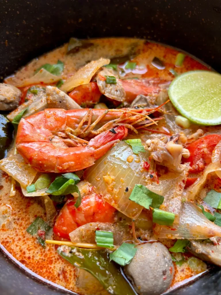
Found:
M 220 140 L 221 135 L 209 134 L 187 146 L 190 156 L 189 158 L 184 159 L 184 162 L 190 162 L 190 173 L 199 173 L 211 163 L 212 151 Z

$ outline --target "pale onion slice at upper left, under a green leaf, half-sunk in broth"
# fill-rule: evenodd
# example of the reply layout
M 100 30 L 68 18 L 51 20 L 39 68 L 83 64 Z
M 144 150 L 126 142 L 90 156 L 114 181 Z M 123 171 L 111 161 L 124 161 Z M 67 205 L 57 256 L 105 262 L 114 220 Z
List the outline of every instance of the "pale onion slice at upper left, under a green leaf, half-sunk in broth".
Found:
M 50 72 L 45 69 L 40 69 L 33 77 L 24 79 L 23 82 L 16 84 L 16 87 L 25 87 L 32 84 L 53 84 L 61 79 L 60 76 L 52 75 Z

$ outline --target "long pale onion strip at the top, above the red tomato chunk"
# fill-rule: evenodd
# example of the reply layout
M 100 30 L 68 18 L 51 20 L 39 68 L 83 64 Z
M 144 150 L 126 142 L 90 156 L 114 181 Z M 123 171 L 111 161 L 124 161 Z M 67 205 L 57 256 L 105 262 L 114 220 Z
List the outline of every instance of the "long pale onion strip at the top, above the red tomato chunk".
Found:
M 87 63 L 85 66 L 80 68 L 73 76 L 71 76 L 62 86 L 62 91 L 71 91 L 75 87 L 83 84 L 88 84 L 94 74 L 104 65 L 110 63 L 109 59 L 100 58 Z

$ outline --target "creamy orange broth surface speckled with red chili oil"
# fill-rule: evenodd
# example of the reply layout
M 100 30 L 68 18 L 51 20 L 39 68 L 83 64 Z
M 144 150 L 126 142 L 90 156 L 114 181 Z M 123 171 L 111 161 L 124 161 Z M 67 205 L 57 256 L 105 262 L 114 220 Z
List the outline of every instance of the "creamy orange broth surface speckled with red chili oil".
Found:
M 173 80 L 174 76 L 169 71 L 171 68 L 177 71 L 177 73 L 196 69 L 208 69 L 189 56 L 185 58 L 182 67 L 175 68 L 174 63 L 178 53 L 177 50 L 144 40 L 105 38 L 93 39 L 91 42 L 93 42 L 93 46 L 81 48 L 78 52 L 70 54 L 66 54 L 67 44 L 65 44 L 32 60 L 28 65 L 20 69 L 13 78 L 6 79 L 6 82 L 14 85 L 19 84 L 21 81 L 33 76 L 34 71 L 41 65 L 45 63 L 55 64 L 57 60 L 61 60 L 64 63 L 64 71 L 61 78 L 67 79 L 90 60 L 96 60 L 100 57 L 115 58 L 131 54 L 135 56 L 133 58 L 134 62 L 146 65 L 146 73 L 136 75 L 141 78 L 159 77 Z M 158 70 L 152 65 L 151 62 L 154 57 L 164 62 L 165 69 Z M 30 270 L 54 283 L 77 292 L 75 268 L 57 254 L 56 246 L 46 245 L 45 248 L 42 248 L 37 240 L 26 232 L 26 229 L 37 216 L 46 220 L 45 210 L 34 198 L 24 197 L 19 188 L 16 189 L 16 195 L 10 197 L 10 177 L 7 175 L 2 174 L 0 184 L 2 186 L 0 191 L 0 207 L 8 205 L 12 208 L 10 222 L 0 229 L 1 244 Z M 176 268 L 172 285 L 195 274 L 186 266 L 183 266 L 182 270 Z M 102 291 L 100 294 L 102 294 Z

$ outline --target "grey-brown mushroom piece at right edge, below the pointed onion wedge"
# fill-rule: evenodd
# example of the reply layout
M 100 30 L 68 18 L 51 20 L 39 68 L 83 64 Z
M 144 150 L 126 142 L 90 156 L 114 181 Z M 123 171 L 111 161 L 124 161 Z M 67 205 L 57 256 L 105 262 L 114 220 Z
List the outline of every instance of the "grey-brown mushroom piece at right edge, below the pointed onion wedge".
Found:
M 220 238 L 218 238 L 220 240 Z M 216 239 L 217 240 L 217 239 Z M 198 258 L 221 266 L 221 244 L 220 242 L 202 242 L 193 240 L 189 246 L 191 252 Z

